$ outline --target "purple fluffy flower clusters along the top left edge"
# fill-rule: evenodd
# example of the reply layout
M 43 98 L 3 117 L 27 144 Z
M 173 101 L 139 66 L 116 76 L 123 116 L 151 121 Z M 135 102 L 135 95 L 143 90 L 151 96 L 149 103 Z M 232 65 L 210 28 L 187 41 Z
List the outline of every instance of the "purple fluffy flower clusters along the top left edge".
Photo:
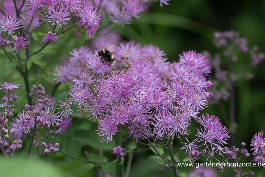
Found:
M 159 2 L 162 6 L 162 4 L 168 5 L 168 1 L 160 0 Z M 16 5 L 14 2 L 16 2 Z M 9 47 L 12 45 L 16 53 L 17 51 L 20 52 L 20 49 L 27 48 L 27 45 L 31 42 L 27 41 L 27 35 L 45 23 L 49 24 L 50 29 L 41 42 L 47 42 L 47 44 L 48 42 L 57 42 L 59 41 L 57 37 L 59 34 L 72 28 L 77 29 L 76 36 L 80 37 L 79 27 L 85 28 L 86 38 L 90 39 L 96 34 L 101 20 L 111 20 L 122 26 L 130 24 L 132 18 L 139 18 L 138 14 L 146 10 L 152 2 L 155 1 L 3 0 L 3 7 L 1 7 L 0 12 L 0 46 Z M 44 22 L 41 23 L 42 21 Z M 74 23 L 74 26 L 61 32 L 70 21 Z M 61 29 L 57 30 L 56 27 Z M 18 29 L 20 31 L 18 37 L 13 36 Z M 5 34 L 1 34 L 2 31 L 7 32 L 13 38 L 11 36 L 5 37 Z M 21 36 L 19 36 L 20 34 Z

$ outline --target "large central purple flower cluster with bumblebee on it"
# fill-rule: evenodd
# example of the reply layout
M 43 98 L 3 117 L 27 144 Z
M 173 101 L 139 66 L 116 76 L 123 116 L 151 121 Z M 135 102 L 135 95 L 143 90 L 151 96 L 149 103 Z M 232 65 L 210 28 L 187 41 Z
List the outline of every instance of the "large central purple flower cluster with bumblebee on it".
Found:
M 198 142 L 205 145 L 201 152 L 211 157 L 223 153 L 227 128 L 215 116 L 198 118 L 211 95 L 207 90 L 212 83 L 206 78 L 211 64 L 206 57 L 188 51 L 170 64 L 158 47 L 132 41 L 113 47 L 112 64 L 102 63 L 94 53 L 87 46 L 73 49 L 69 61 L 56 69 L 57 82 L 72 82 L 70 98 L 60 105 L 65 115 L 73 115 L 72 108 L 85 111 L 87 118 L 98 120 L 96 131 L 107 142 L 123 125 L 126 136 L 136 141 L 150 136 L 180 139 L 190 133 L 194 118 L 203 128 L 198 129 L 194 146 L 186 146 L 190 157 L 198 157 Z M 113 153 L 122 155 L 119 152 L 117 146 Z

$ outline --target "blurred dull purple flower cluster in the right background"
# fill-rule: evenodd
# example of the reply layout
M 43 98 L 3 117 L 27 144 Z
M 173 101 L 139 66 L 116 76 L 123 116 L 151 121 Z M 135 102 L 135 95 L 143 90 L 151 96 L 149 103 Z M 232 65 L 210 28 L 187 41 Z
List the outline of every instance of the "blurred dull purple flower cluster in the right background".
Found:
M 252 67 L 257 67 L 257 65 L 265 58 L 264 53 L 258 52 L 258 46 L 253 46 L 251 49 L 249 49 L 247 39 L 240 37 L 239 33 L 234 30 L 214 32 L 214 45 L 216 48 L 224 49 L 222 55 L 217 53 L 214 56 L 211 56 L 208 51 L 202 52 L 203 55 L 211 60 L 212 66 L 215 70 L 213 78 L 214 87 L 209 90 L 213 96 L 210 98 L 209 104 L 216 104 L 221 99 L 227 100 L 230 97 L 228 88 L 235 80 L 242 77 L 246 79 L 251 79 L 254 77 L 253 73 L 246 71 L 246 66 L 248 66 L 248 63 L 242 65 L 237 70 L 233 69 L 233 65 L 236 65 L 238 60 L 242 60 L 239 58 L 239 53 L 249 57 L 249 63 L 251 63 Z M 240 57 L 244 55 L 240 55 Z M 229 70 L 222 69 L 222 58 L 228 58 L 230 60 L 229 65 L 231 67 Z

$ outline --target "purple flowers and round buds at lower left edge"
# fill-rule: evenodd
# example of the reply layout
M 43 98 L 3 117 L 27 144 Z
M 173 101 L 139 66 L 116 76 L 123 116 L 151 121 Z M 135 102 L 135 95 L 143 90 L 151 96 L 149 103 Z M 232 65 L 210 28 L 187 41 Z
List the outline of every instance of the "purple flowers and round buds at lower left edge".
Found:
M 42 139 L 42 141 L 46 141 L 42 142 L 42 146 L 46 148 L 43 151 L 44 154 L 58 152 L 59 143 L 51 143 L 52 134 L 63 134 L 71 126 L 72 118 L 55 112 L 55 99 L 46 94 L 42 85 L 32 86 L 32 92 L 29 94 L 30 97 L 35 98 L 32 101 L 32 106 L 26 104 L 25 110 L 15 117 L 12 113 L 14 105 L 9 104 L 13 103 L 13 100 L 17 100 L 18 96 L 13 92 L 13 89 L 19 88 L 20 84 L 4 82 L 0 85 L 3 86 L 0 89 L 6 91 L 2 98 L 5 103 L 0 104 L 0 107 L 6 107 L 4 113 L 0 114 L 0 147 L 2 152 L 6 155 L 13 155 L 17 148 L 21 149 L 22 139 L 26 138 L 26 134 L 32 133 L 35 127 L 41 129 L 40 132 L 42 132 L 35 138 L 35 146 L 38 146 L 38 140 Z M 8 121 L 8 119 L 12 119 L 12 121 Z

